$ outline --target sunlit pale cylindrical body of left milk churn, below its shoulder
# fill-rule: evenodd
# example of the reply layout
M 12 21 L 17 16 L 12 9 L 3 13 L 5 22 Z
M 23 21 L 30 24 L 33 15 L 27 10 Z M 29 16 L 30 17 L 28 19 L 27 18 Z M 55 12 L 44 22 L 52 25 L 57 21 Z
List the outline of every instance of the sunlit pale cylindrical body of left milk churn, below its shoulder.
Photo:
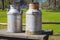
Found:
M 8 32 L 16 32 L 16 15 L 8 15 L 8 27 L 7 27 L 7 31 Z

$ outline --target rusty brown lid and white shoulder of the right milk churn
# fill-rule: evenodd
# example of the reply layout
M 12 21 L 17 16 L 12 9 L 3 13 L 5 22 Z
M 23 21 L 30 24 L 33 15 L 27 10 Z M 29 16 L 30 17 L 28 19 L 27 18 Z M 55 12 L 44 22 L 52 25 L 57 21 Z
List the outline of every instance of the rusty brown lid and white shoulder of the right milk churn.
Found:
M 39 3 L 33 2 L 29 4 L 29 10 L 26 12 L 26 14 L 33 14 L 33 12 L 40 14 L 39 11 Z

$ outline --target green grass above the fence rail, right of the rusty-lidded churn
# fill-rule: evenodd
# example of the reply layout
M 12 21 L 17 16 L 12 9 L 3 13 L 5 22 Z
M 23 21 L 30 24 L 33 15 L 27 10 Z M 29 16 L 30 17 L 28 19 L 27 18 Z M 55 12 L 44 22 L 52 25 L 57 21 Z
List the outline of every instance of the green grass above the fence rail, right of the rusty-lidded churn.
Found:
M 58 10 L 42 10 L 42 21 L 60 21 L 60 11 Z

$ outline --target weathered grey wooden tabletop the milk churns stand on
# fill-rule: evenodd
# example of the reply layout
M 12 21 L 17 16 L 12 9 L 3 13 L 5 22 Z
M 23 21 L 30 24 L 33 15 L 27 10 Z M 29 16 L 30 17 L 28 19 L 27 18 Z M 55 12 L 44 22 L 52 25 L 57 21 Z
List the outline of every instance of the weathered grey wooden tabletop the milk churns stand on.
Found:
M 17 39 L 35 39 L 35 40 L 48 40 L 47 35 L 26 35 L 25 33 L 8 33 L 6 31 L 0 31 L 0 38 L 17 38 Z

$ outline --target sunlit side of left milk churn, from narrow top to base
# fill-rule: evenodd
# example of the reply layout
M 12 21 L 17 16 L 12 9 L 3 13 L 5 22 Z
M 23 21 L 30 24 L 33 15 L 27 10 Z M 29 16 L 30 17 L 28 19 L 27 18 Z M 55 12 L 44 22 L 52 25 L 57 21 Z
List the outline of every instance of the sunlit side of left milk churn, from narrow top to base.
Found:
M 20 12 L 15 8 L 15 6 L 10 5 L 10 10 L 7 13 L 7 22 L 8 22 L 7 32 L 17 32 L 17 19 L 18 19 L 17 16 L 19 14 Z

